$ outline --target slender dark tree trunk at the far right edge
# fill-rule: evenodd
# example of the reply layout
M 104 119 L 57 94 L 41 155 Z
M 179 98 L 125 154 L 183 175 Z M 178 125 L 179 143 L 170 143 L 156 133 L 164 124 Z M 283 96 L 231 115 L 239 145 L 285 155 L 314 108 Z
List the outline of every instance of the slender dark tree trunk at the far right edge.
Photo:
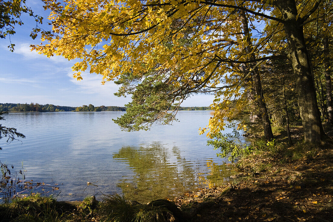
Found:
M 331 85 L 331 72 L 330 72 L 330 58 L 328 37 L 324 38 L 324 63 L 325 63 L 325 79 L 326 79 L 326 104 L 327 104 L 327 117 L 328 122 L 333 124 L 333 109 L 332 109 L 332 85 Z

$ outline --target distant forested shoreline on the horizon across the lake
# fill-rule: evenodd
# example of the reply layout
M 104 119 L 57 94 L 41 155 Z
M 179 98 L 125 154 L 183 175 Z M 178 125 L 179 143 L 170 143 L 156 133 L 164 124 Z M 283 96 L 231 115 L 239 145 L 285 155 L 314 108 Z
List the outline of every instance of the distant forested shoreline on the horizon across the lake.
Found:
M 210 107 L 192 106 L 179 107 L 179 110 L 210 110 Z M 53 104 L 41 105 L 38 103 L 21 104 L 21 103 L 0 103 L 0 111 L 8 112 L 101 112 L 101 111 L 126 111 L 126 107 L 119 106 L 94 106 L 92 104 L 79 107 L 56 106 Z

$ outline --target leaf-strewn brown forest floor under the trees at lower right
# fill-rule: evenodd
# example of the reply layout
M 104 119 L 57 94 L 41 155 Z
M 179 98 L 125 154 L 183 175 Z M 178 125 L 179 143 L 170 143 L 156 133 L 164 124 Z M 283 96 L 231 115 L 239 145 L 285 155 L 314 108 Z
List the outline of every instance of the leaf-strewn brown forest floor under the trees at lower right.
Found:
M 326 143 L 301 144 L 301 127 L 293 127 L 294 146 L 258 150 L 236 164 L 241 170 L 226 187 L 197 192 L 173 201 L 195 209 L 195 222 L 333 221 L 333 149 Z M 285 137 L 277 136 L 277 144 Z

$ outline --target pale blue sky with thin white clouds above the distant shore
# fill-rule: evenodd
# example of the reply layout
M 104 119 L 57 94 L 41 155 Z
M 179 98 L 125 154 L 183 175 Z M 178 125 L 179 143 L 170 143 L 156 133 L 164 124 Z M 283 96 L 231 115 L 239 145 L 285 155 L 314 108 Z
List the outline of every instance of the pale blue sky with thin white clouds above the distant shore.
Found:
M 35 14 L 44 17 L 42 27 L 50 30 L 48 12 L 44 11 L 39 0 L 27 0 Z M 60 106 L 124 106 L 131 101 L 130 97 L 117 97 L 118 86 L 113 82 L 101 84 L 102 76 L 82 73 L 83 80 L 72 77 L 71 67 L 75 61 L 68 61 L 60 56 L 47 58 L 30 50 L 31 44 L 39 44 L 37 37 L 29 35 L 36 26 L 32 17 L 21 17 L 24 25 L 16 26 L 16 33 L 10 37 L 15 44 L 15 51 L 10 52 L 9 38 L 0 39 L 0 103 L 39 103 Z M 181 106 L 209 106 L 212 95 L 193 95 Z

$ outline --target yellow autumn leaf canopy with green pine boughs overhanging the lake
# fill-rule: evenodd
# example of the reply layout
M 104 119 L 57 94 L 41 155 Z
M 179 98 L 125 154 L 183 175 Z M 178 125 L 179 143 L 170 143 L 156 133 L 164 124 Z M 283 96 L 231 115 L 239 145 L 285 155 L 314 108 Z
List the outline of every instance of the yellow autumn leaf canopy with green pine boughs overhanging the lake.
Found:
M 87 70 L 101 74 L 102 84 L 119 78 L 124 86 L 119 95 L 134 97 L 128 105 L 133 112 L 117 120 L 129 130 L 147 129 L 160 117 L 173 120 L 166 110 L 191 93 L 214 93 L 214 116 L 200 131 L 209 128 L 212 138 L 223 130 L 225 118 L 244 109 L 241 86 L 251 70 L 245 73 L 239 66 L 260 66 L 286 54 L 277 2 L 44 0 L 52 31 L 43 31 L 43 42 L 32 47 L 47 56 L 79 59 L 73 66 L 77 80 Z M 297 16 L 306 21 L 317 3 L 297 3 Z M 249 20 L 249 36 L 242 31 L 240 10 Z

